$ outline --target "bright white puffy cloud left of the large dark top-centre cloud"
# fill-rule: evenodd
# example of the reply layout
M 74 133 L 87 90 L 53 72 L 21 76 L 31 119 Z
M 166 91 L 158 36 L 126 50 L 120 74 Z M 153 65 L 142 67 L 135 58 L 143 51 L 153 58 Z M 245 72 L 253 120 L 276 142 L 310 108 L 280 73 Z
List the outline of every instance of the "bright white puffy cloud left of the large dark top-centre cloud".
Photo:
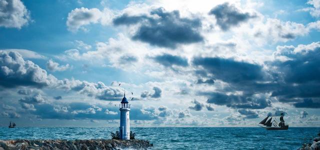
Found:
M 91 23 L 101 23 L 107 25 L 113 17 L 113 12 L 108 8 L 100 11 L 97 8 L 75 8 L 68 13 L 66 25 L 69 31 L 76 32 L 78 29 L 87 31 L 84 25 Z

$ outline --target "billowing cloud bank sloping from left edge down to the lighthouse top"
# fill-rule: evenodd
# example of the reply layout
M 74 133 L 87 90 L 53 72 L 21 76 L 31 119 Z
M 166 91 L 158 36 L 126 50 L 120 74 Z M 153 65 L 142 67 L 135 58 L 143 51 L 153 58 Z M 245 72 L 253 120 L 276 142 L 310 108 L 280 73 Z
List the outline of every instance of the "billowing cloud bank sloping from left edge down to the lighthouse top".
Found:
M 0 85 L 3 87 L 49 86 L 53 89 L 78 91 L 101 100 L 115 100 L 122 95 L 122 90 L 105 86 L 102 82 L 92 83 L 73 78 L 58 80 L 32 61 L 24 61 L 19 53 L 13 51 L 0 50 L 0 66 Z M 61 66 L 57 67 L 61 69 Z M 156 91 L 152 97 L 159 94 Z

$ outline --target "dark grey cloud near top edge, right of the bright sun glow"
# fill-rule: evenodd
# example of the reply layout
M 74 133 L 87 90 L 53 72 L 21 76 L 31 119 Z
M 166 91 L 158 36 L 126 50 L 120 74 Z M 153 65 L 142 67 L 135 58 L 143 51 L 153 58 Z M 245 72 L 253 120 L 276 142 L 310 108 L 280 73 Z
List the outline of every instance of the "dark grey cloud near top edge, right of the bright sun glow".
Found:
M 236 26 L 241 22 L 247 21 L 249 18 L 256 17 L 248 12 L 240 12 L 238 8 L 230 5 L 228 2 L 213 7 L 209 14 L 215 16 L 216 23 L 222 30 L 228 30 L 231 26 Z

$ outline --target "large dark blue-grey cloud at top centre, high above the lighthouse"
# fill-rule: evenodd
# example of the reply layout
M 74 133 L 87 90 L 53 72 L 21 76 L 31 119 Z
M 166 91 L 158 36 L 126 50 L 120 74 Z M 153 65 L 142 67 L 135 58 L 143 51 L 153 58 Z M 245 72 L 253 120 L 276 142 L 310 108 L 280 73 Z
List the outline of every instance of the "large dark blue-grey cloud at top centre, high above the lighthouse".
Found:
M 113 19 L 113 24 L 140 23 L 132 39 L 160 47 L 175 48 L 177 44 L 203 40 L 198 31 L 201 27 L 201 21 L 198 18 L 181 18 L 178 10 L 167 12 L 161 7 L 153 9 L 150 15 L 122 14 Z

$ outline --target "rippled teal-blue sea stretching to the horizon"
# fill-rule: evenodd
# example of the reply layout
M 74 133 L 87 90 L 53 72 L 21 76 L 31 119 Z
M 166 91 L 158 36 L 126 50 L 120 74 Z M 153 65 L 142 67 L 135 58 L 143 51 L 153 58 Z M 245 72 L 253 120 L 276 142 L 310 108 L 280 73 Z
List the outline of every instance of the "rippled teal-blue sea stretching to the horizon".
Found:
M 117 127 L 0 127 L 0 139 L 110 139 Z M 150 149 L 297 149 L 320 127 L 131 127 Z

